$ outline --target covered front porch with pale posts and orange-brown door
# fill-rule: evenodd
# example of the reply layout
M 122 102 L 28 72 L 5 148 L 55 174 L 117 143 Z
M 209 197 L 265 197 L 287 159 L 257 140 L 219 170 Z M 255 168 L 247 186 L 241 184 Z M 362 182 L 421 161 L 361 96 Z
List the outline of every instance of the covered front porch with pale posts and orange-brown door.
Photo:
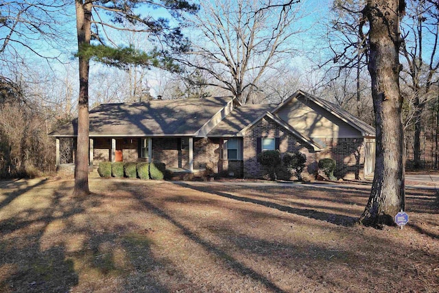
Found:
M 71 139 L 71 143 L 63 143 L 62 139 Z M 74 165 L 75 144 L 75 138 L 56 137 L 57 169 L 64 164 Z M 62 148 L 70 150 L 65 152 Z M 204 172 L 208 166 L 217 169 L 219 156 L 219 143 L 193 137 L 91 137 L 88 149 L 90 166 L 103 161 L 154 161 L 165 163 L 169 172 L 177 174 Z

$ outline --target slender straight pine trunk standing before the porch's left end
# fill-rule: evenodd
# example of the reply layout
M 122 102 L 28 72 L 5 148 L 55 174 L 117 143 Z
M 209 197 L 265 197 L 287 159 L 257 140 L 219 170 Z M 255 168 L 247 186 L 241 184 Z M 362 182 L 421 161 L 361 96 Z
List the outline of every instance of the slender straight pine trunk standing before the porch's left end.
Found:
M 75 0 L 78 51 L 91 39 L 91 1 Z M 78 143 L 76 144 L 75 189 L 73 196 L 86 196 L 88 189 L 88 57 L 79 54 L 80 93 L 78 97 Z

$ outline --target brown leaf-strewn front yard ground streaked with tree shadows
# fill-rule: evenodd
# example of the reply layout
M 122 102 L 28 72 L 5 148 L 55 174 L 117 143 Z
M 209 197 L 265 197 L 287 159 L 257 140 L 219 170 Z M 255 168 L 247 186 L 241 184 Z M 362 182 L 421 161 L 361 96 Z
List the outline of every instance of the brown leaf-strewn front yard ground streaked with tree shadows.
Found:
M 370 186 L 0 181 L 1 292 L 439 292 L 434 191 L 402 230 L 357 226 Z

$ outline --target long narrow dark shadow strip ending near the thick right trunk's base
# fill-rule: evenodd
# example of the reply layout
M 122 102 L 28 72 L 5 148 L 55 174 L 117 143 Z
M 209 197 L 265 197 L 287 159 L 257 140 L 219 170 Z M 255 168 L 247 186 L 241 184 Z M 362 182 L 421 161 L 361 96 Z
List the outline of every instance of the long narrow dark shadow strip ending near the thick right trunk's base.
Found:
M 316 211 L 315 209 L 298 209 L 294 207 L 288 207 L 283 204 L 278 204 L 276 202 L 271 202 L 268 200 L 257 200 L 254 198 L 247 198 L 245 196 L 234 196 L 233 194 L 226 194 L 225 192 L 221 191 L 213 191 L 209 187 L 200 187 L 200 186 L 193 186 L 189 185 L 187 183 L 176 183 L 182 187 L 187 187 L 190 189 L 194 189 L 196 191 L 202 191 L 209 194 L 215 194 L 217 196 L 222 196 L 224 198 L 230 198 L 233 200 L 239 200 L 241 202 L 251 202 L 253 204 L 259 204 L 264 207 L 269 207 L 270 209 L 278 209 L 279 211 L 285 211 L 287 213 L 294 213 L 296 215 L 302 215 L 307 218 L 315 219 L 315 220 L 322 220 L 327 221 L 332 224 L 341 225 L 341 226 L 353 226 L 355 222 L 357 222 L 357 218 L 349 217 L 347 215 L 339 215 L 336 213 L 326 213 L 324 211 Z

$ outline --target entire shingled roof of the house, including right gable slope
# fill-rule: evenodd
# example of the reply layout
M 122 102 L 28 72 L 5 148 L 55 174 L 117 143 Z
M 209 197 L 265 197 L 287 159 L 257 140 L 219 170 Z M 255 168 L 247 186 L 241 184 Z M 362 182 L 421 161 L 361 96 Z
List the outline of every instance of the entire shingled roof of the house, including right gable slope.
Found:
M 324 99 L 298 91 L 289 99 L 302 97 L 329 110 L 368 135 L 375 135 L 369 126 L 346 110 Z M 90 137 L 157 137 L 195 136 L 196 132 L 232 97 L 206 99 L 154 100 L 150 102 L 102 104 L 90 111 Z M 235 108 L 207 134 L 209 137 L 233 137 L 265 113 L 275 114 L 281 104 L 244 105 Z M 292 126 L 294 127 L 294 126 Z M 54 137 L 73 137 L 78 133 L 78 120 L 54 130 Z

